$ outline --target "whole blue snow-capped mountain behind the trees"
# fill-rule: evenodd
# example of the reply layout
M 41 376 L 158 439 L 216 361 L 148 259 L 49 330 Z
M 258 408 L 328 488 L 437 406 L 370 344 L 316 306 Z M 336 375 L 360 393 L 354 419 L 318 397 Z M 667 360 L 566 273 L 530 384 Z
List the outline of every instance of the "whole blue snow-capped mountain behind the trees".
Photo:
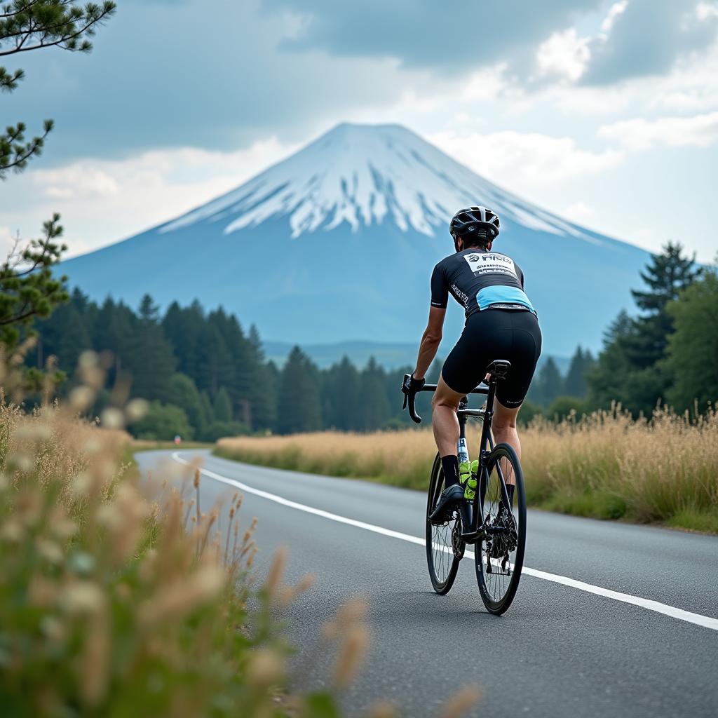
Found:
M 176 220 L 67 261 L 98 299 L 222 304 L 273 340 L 417 340 L 447 223 L 499 213 L 495 244 L 521 265 L 544 346 L 592 348 L 647 253 L 541 210 L 401 126 L 342 124 L 236 190 Z M 449 312 L 447 343 L 462 309 Z

